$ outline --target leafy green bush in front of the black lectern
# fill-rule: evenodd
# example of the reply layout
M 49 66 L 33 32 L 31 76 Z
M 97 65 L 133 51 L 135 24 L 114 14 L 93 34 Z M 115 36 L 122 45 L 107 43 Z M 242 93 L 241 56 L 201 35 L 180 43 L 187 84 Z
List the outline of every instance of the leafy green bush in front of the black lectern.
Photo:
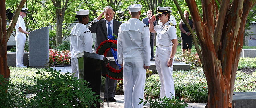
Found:
M 32 78 L 36 81 L 36 85 L 30 86 L 30 89 L 38 90 L 36 96 L 31 100 L 31 105 L 39 108 L 89 108 L 96 106 L 96 103 L 102 102 L 97 99 L 99 95 L 93 96 L 95 92 L 88 88 L 88 82 L 73 78 L 71 73 L 65 75 L 60 74 L 60 71 L 46 69 L 48 73 L 41 73 L 40 71 L 36 74 L 40 74 L 41 77 L 47 77 L 47 79 Z M 49 75 L 49 76 L 47 76 Z

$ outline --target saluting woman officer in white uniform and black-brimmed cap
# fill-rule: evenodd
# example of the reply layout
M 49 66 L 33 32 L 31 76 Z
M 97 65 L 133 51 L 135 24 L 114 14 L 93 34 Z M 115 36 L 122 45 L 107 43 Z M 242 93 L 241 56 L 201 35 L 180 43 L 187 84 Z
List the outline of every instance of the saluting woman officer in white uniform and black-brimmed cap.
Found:
M 157 12 L 156 15 L 162 23 L 153 26 L 151 22 L 154 22 L 156 18 L 152 16 L 149 23 L 149 30 L 150 32 L 157 32 L 155 63 L 161 82 L 160 98 L 164 96 L 172 98 L 172 96 L 175 96 L 172 67 L 178 40 L 176 29 L 174 25 L 170 23 L 171 10 L 164 7 L 157 7 Z

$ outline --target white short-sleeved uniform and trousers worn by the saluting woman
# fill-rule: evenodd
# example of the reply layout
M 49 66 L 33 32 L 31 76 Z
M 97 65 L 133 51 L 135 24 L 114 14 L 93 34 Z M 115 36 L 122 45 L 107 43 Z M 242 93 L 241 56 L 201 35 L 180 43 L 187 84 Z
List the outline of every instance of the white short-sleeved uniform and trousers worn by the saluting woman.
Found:
M 154 30 L 157 32 L 155 64 L 161 82 L 160 98 L 163 98 L 164 96 L 172 98 L 172 95 L 175 96 L 174 81 L 172 77 L 173 65 L 168 67 L 167 62 L 172 51 L 171 40 L 177 39 L 176 29 L 169 20 L 165 24 L 161 23 L 154 26 Z

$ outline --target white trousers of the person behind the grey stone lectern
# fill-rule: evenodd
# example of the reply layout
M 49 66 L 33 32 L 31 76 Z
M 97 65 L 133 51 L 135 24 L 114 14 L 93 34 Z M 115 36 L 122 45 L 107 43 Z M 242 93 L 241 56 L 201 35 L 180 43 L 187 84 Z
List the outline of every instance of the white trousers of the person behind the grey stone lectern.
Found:
M 16 67 L 22 67 L 23 65 L 23 55 L 24 47 L 26 42 L 26 34 L 20 34 L 16 32 Z

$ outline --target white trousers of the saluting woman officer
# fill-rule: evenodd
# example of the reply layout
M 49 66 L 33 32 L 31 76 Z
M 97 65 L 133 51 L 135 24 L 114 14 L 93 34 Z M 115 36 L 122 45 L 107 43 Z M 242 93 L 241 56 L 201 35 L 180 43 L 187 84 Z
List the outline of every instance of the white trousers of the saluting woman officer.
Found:
M 172 95 L 175 96 L 174 81 L 172 77 L 173 65 L 171 67 L 167 66 L 167 62 L 170 58 L 171 51 L 172 47 L 156 48 L 155 64 L 161 82 L 160 98 L 163 98 L 164 96 L 172 98 Z M 174 60 L 172 64 L 173 63 Z

